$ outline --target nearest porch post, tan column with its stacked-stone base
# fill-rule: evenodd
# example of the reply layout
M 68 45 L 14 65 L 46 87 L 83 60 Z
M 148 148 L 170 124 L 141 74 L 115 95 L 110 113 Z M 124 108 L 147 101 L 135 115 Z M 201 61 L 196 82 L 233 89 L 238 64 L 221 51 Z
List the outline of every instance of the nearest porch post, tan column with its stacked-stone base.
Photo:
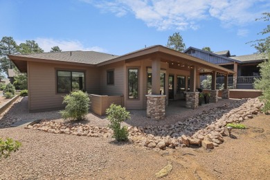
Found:
M 152 95 L 146 95 L 146 116 L 155 120 L 165 118 L 166 95 L 160 94 L 161 59 L 152 60 Z

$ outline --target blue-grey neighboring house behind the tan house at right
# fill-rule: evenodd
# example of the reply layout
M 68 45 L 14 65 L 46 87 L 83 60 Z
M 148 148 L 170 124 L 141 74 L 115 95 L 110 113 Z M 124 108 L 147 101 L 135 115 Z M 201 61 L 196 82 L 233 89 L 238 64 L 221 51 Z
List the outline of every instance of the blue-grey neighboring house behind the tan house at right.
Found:
M 210 53 L 194 47 L 189 47 L 184 53 L 235 71 L 235 75 L 228 78 L 228 84 L 235 89 L 253 89 L 254 79 L 260 78 L 258 64 L 266 59 L 261 54 L 235 56 L 230 51 Z M 217 77 L 217 84 L 222 83 L 224 78 Z

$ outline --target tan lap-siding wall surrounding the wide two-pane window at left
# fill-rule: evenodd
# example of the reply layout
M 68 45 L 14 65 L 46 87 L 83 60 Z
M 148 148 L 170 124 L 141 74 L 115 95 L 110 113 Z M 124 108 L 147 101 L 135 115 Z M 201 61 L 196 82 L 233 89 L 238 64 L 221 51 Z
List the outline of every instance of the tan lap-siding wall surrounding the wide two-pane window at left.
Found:
M 66 93 L 57 93 L 56 69 L 85 71 L 87 93 L 100 93 L 98 69 L 87 66 L 28 62 L 29 111 L 48 111 L 64 107 L 62 96 Z

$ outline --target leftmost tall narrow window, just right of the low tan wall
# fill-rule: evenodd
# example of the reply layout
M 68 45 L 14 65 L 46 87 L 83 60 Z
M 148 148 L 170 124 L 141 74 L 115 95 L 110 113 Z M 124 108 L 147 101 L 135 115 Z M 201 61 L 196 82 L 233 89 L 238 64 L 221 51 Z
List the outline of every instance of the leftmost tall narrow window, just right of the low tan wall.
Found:
M 128 69 L 128 98 L 138 99 L 138 69 Z

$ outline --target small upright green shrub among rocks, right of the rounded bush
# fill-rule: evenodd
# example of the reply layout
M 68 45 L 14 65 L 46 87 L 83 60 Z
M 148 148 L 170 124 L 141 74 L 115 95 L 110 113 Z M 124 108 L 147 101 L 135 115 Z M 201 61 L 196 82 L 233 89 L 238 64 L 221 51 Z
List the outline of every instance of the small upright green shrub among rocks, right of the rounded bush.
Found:
M 116 141 L 127 141 L 128 132 L 127 127 L 121 127 L 121 123 L 124 120 L 130 118 L 129 112 L 125 110 L 125 107 L 120 105 L 111 104 L 108 109 L 106 109 L 107 119 L 110 124 L 108 125 L 114 131 L 113 138 L 116 138 Z

